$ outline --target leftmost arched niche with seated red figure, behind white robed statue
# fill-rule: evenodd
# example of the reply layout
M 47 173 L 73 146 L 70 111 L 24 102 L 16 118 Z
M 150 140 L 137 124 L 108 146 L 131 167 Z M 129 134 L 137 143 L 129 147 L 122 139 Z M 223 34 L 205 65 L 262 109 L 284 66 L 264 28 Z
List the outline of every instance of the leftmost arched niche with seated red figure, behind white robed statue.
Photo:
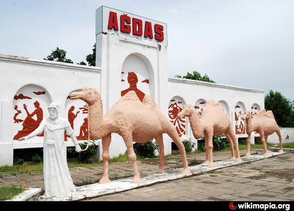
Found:
M 36 130 L 41 121 L 49 117 L 47 107 L 51 102 L 50 94 L 42 86 L 28 84 L 20 88 L 12 103 L 14 111 L 13 139 L 18 140 Z M 44 136 L 44 134 L 39 136 Z M 40 138 L 34 137 L 32 139 Z

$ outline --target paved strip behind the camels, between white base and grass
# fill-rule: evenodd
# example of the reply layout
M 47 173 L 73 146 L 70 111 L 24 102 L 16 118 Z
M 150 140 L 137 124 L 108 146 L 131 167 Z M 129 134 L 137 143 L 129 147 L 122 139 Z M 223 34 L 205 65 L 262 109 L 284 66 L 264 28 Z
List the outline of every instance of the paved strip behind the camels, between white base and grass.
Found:
M 251 154 L 261 150 L 251 150 Z M 240 151 L 240 155 L 245 156 L 245 150 Z M 230 152 L 216 152 L 214 153 L 214 161 L 230 158 Z M 205 153 L 187 155 L 188 164 L 197 165 L 204 161 Z M 137 161 L 139 173 L 148 174 L 157 171 L 159 166 L 159 159 L 152 158 L 144 161 Z M 172 170 L 173 168 L 183 167 L 180 155 L 175 155 L 170 158 L 165 158 L 165 170 Z M 89 185 L 98 183 L 103 175 L 103 164 L 97 164 L 89 167 L 74 167 L 71 168 L 71 175 L 74 185 Z M 130 161 L 109 163 L 109 178 L 110 180 L 122 179 L 133 176 L 133 168 Z M 27 182 L 28 187 L 39 187 L 44 189 L 43 173 L 17 174 L 2 174 L 0 178 L 0 185 L 24 185 Z

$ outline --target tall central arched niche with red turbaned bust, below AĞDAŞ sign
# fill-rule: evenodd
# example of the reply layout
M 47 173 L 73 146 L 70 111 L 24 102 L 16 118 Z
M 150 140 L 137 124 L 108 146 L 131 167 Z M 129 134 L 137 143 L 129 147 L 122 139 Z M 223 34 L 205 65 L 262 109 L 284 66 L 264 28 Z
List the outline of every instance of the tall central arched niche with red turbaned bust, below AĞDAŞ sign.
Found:
M 144 94 L 154 99 L 154 73 L 150 61 L 140 53 L 128 55 L 122 67 L 121 96 L 134 90 L 142 100 Z

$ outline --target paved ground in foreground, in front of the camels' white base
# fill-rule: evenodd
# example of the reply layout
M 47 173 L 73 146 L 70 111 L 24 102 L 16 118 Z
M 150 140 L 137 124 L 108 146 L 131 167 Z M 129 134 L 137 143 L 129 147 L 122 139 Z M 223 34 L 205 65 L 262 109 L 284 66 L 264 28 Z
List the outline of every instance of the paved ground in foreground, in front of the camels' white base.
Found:
M 293 160 L 287 153 L 88 201 L 293 201 Z

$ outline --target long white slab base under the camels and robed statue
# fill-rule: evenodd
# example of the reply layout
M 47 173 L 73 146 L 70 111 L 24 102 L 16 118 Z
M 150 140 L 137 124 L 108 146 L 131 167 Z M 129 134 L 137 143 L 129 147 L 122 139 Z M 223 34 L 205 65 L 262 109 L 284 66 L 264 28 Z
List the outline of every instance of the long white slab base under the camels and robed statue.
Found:
M 243 160 L 243 163 L 253 162 L 253 161 L 257 161 L 260 159 L 269 158 L 269 157 L 277 156 L 277 155 L 281 155 L 281 154 L 283 154 L 283 153 L 269 151 L 268 156 L 251 155 L 251 157 L 249 157 L 249 158 L 242 157 L 242 160 Z M 172 171 L 167 171 L 166 173 L 163 173 L 163 174 L 152 173 L 152 174 L 148 174 L 148 175 L 141 175 L 141 178 L 144 181 L 141 184 L 131 183 L 133 178 L 129 177 L 129 178 L 124 178 L 124 179 L 120 179 L 120 180 L 115 180 L 115 181 L 112 181 L 111 183 L 108 183 L 108 184 L 96 183 L 96 184 L 91 184 L 91 185 L 79 186 L 74 189 L 71 196 L 62 196 L 62 197 L 60 197 L 60 196 L 59 197 L 58 196 L 56 196 L 56 197 L 55 196 L 54 197 L 41 196 L 38 198 L 38 200 L 39 201 L 76 201 L 76 200 L 82 200 L 82 199 L 87 199 L 87 198 L 93 198 L 93 197 L 97 197 L 97 196 L 118 193 L 118 192 L 122 192 L 125 190 L 130 190 L 130 189 L 134 189 L 134 188 L 138 188 L 138 187 L 142 187 L 142 186 L 146 186 L 146 185 L 151 185 L 151 184 L 155 184 L 155 183 L 161 183 L 161 182 L 171 181 L 171 180 L 175 180 L 175 179 L 179 179 L 179 178 L 184 178 L 184 177 L 191 176 L 191 175 L 197 175 L 199 173 L 203 173 L 203 172 L 207 172 L 207 171 L 211 171 L 211 170 L 216 170 L 216 169 L 220 169 L 220 168 L 224 168 L 224 167 L 229 167 L 229 166 L 233 166 L 233 165 L 238 165 L 240 163 L 228 159 L 228 160 L 216 161 L 216 162 L 214 162 L 214 164 L 215 164 L 214 168 L 207 167 L 206 163 L 202 163 L 202 164 L 195 165 L 195 166 L 190 166 L 189 169 L 192 172 L 192 174 L 190 174 L 190 175 L 182 174 L 181 172 L 182 172 L 183 168 L 177 168 L 177 169 L 173 169 Z

